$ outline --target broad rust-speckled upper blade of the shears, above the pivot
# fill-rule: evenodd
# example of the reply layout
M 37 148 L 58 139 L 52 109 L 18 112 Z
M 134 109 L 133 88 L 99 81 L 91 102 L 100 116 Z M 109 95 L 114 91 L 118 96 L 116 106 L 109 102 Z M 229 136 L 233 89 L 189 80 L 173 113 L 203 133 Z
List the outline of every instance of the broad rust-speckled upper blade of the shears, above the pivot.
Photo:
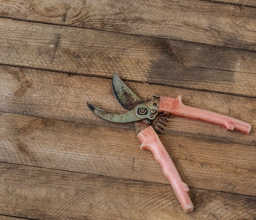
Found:
M 143 103 L 143 100 L 131 91 L 116 73 L 113 74 L 112 87 L 114 96 L 123 108 L 132 110 L 136 105 Z

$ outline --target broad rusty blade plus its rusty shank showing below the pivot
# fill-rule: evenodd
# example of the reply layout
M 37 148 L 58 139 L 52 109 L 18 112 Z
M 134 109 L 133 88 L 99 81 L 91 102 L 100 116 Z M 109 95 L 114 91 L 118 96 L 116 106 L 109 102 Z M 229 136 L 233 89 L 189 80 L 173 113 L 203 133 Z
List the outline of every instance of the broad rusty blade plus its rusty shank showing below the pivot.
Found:
M 116 75 L 116 73 L 113 74 L 112 87 L 114 96 L 123 108 L 127 110 L 132 110 L 138 104 L 143 103 L 143 100 L 133 91 L 131 91 L 131 89 L 127 85 L 125 85 L 125 83 L 119 78 L 119 76 Z M 134 123 L 137 134 L 150 126 L 149 119 L 143 119 Z

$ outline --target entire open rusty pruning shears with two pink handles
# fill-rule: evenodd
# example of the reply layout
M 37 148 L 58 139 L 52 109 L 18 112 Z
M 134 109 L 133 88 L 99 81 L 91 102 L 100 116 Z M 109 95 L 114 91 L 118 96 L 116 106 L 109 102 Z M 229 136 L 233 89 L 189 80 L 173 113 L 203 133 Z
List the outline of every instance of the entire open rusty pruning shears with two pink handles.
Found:
M 87 106 L 102 119 L 119 123 L 134 122 L 138 134 L 137 138 L 141 142 L 140 149 L 147 149 L 153 153 L 154 158 L 163 169 L 163 174 L 172 185 L 173 191 L 183 210 L 185 212 L 192 211 L 193 204 L 189 198 L 189 188 L 181 180 L 171 157 L 164 148 L 157 133 L 163 130 L 163 126 L 166 126 L 167 119 L 175 116 L 209 122 L 224 127 L 226 130 L 236 130 L 243 134 L 250 133 L 251 125 L 220 113 L 187 106 L 182 103 L 181 96 L 177 98 L 153 96 L 153 100 L 144 102 L 115 73 L 113 74 L 112 85 L 114 96 L 123 108 L 129 110 L 127 113 L 105 111 L 89 101 L 87 101 Z M 150 120 L 154 119 L 158 113 L 162 117 L 158 119 L 153 128 L 150 125 Z

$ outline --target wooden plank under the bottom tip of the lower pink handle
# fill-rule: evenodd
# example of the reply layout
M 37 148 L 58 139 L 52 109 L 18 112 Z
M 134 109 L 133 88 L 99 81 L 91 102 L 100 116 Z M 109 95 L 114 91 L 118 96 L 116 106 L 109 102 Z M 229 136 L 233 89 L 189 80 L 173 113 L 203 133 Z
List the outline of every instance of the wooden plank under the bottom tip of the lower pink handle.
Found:
M 0 164 L 0 212 L 37 219 L 253 219 L 256 198 L 190 189 L 181 210 L 168 185 Z

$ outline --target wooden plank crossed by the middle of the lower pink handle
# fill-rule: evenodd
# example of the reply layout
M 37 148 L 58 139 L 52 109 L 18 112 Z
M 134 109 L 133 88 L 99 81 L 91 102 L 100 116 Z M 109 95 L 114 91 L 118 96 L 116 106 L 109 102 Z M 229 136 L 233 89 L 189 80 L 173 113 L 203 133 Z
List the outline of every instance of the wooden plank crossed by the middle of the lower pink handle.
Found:
M 0 114 L 0 161 L 169 184 L 134 130 Z M 183 181 L 195 188 L 256 196 L 256 149 L 162 135 Z

